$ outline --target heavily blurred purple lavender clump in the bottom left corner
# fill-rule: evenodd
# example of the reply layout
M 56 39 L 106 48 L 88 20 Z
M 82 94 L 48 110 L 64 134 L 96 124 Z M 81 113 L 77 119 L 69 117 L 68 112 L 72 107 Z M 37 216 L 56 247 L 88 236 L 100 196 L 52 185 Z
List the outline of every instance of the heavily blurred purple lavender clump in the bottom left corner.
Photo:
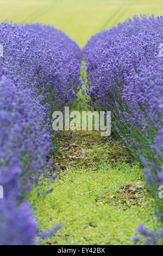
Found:
M 17 205 L 14 198 L 1 199 L 0 226 L 1 245 L 33 245 L 37 225 L 27 201 Z

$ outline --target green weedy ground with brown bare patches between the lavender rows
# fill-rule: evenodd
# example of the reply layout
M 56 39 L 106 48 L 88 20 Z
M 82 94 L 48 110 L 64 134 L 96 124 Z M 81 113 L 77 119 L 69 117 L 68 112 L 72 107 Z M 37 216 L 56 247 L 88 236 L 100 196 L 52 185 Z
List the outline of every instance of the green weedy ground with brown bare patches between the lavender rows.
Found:
M 40 229 L 62 222 L 58 233 L 42 241 L 46 245 L 130 245 L 138 224 L 157 227 L 153 199 L 142 169 L 131 165 L 120 142 L 106 143 L 98 132 L 66 133 L 55 156 L 60 165 L 54 184 L 36 187 L 28 198 Z M 71 150 L 66 150 L 71 145 Z M 43 193 L 54 187 L 52 193 Z M 141 241 L 143 243 L 143 241 Z

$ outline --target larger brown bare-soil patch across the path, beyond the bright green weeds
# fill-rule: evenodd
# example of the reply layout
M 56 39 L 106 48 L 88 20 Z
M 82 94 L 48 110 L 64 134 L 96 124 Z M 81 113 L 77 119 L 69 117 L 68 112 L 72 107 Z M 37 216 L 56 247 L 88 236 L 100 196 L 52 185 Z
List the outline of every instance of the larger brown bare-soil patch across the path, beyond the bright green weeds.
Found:
M 73 133 L 71 140 L 69 136 L 70 132 L 62 134 L 58 154 L 55 156 L 54 161 L 54 167 L 59 165 L 63 172 L 66 172 L 70 167 L 77 167 L 80 164 L 85 168 L 91 168 L 92 162 L 97 162 L 98 164 L 102 160 L 101 155 L 98 155 L 98 152 L 93 153 L 92 150 L 94 147 L 97 147 L 101 151 L 105 148 L 106 144 L 110 145 L 110 154 L 108 154 L 106 159 L 103 159 L 106 163 L 115 162 L 123 157 L 127 158 L 127 152 L 122 149 L 121 142 L 117 142 L 116 147 L 114 147 L 115 143 L 108 137 L 101 137 L 98 131 L 76 131 Z

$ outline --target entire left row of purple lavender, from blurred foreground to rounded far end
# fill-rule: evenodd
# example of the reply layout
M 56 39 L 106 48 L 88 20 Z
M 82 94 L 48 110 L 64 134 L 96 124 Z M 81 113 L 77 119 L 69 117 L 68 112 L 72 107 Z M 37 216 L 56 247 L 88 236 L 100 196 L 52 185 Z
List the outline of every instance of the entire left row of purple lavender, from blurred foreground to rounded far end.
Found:
M 52 171 L 52 112 L 74 98 L 81 53 L 64 33 L 39 24 L 1 23 L 0 43 L 0 244 L 30 245 L 37 225 L 24 197 Z

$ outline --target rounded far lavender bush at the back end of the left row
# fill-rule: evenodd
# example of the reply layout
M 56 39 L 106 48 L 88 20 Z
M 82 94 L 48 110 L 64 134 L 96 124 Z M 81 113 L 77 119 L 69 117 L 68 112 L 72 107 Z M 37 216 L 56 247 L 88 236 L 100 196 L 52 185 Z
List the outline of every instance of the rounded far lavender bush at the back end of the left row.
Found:
M 49 26 L 2 23 L 0 41 L 2 74 L 29 87 L 51 109 L 70 102 L 79 86 L 79 47 L 58 29 Z

